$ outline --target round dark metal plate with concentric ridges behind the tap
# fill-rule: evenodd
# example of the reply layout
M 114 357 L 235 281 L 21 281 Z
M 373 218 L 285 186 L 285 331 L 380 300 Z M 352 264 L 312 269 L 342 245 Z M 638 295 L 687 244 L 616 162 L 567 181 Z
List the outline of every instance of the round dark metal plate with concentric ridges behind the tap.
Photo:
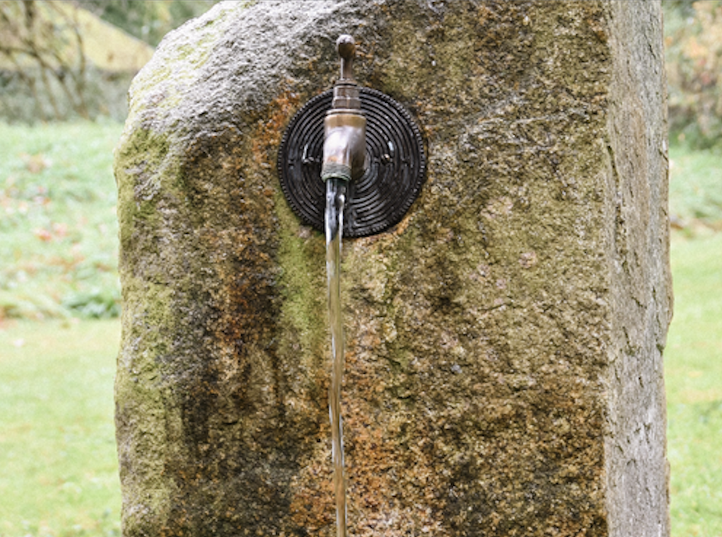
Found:
M 395 100 L 360 88 L 366 116 L 366 172 L 349 185 L 344 237 L 365 237 L 401 221 L 421 191 L 426 160 L 416 123 Z M 323 118 L 333 91 L 313 97 L 292 118 L 278 157 L 281 188 L 305 224 L 323 230 Z

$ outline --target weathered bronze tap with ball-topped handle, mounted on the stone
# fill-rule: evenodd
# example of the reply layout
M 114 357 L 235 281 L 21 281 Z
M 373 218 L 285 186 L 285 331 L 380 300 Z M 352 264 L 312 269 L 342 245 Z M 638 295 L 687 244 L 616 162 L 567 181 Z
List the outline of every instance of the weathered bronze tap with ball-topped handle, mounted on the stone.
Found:
M 366 118 L 353 78 L 354 40 L 350 35 L 342 35 L 336 40 L 336 47 L 341 58 L 341 78 L 334 86 L 333 105 L 323 121 L 321 179 L 351 181 L 365 172 Z

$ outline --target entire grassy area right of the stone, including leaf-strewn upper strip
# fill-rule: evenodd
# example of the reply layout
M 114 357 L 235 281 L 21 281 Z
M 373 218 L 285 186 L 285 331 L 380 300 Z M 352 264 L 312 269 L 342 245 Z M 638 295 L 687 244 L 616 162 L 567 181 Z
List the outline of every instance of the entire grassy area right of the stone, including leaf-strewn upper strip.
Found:
M 673 537 L 722 536 L 722 159 L 669 149 L 674 320 L 665 351 Z

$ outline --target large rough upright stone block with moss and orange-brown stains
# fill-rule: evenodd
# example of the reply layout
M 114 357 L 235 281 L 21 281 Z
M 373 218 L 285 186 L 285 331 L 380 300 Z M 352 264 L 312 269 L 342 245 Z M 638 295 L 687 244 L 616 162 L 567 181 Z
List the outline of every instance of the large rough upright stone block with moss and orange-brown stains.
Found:
M 657 1 L 219 4 L 131 88 L 116 151 L 123 535 L 331 536 L 323 237 L 284 127 L 357 79 L 427 183 L 344 244 L 355 536 L 666 536 L 671 315 Z

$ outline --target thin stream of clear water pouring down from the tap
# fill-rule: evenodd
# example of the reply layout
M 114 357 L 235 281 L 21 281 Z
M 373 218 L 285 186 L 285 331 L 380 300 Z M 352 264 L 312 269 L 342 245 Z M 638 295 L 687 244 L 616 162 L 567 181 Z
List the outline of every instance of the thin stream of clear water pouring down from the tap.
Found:
M 336 495 L 336 536 L 346 537 L 346 483 L 344 480 L 344 436 L 341 420 L 341 383 L 344 375 L 344 333 L 341 314 L 341 243 L 344 230 L 344 202 L 347 182 L 326 181 L 326 276 L 329 284 L 329 323 L 331 325 L 331 453 L 334 460 Z

